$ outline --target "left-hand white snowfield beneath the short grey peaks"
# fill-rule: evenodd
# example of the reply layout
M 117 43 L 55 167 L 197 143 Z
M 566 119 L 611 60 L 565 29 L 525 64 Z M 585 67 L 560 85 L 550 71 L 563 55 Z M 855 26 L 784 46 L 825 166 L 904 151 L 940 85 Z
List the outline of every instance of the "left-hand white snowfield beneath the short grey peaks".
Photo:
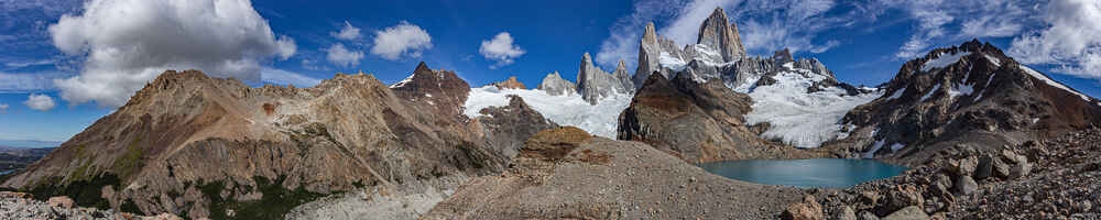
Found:
M 593 106 L 576 92 L 550 96 L 537 89 L 498 89 L 484 86 L 470 89 L 470 97 L 462 105 L 462 114 L 473 119 L 484 116 L 478 113 L 484 108 L 508 106 L 508 95 L 520 96 L 527 106 L 559 125 L 577 127 L 609 139 L 615 139 L 619 114 L 631 105 L 632 99 L 631 95 L 615 94 Z

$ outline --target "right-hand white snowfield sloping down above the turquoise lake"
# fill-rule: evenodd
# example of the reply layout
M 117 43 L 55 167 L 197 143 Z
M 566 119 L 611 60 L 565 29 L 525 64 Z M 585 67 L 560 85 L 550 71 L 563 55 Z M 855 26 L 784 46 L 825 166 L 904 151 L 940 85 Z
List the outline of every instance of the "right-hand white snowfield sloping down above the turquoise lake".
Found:
M 848 96 L 837 87 L 807 94 L 815 81 L 826 79 L 807 69 L 783 72 L 774 78 L 776 84 L 748 92 L 753 98 L 753 109 L 745 120 L 748 124 L 768 122 L 771 127 L 761 134 L 763 138 L 780 139 L 803 148 L 818 147 L 837 139 L 841 135 L 841 118 L 849 110 L 883 96 L 883 91 Z

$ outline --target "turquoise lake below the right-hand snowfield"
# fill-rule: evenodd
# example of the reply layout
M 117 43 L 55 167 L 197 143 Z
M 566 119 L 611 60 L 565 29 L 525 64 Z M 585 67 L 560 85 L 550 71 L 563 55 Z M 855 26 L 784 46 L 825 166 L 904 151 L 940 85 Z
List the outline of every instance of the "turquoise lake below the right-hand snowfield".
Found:
M 851 187 L 907 169 L 872 160 L 848 158 L 727 161 L 704 163 L 699 167 L 727 178 L 799 188 Z

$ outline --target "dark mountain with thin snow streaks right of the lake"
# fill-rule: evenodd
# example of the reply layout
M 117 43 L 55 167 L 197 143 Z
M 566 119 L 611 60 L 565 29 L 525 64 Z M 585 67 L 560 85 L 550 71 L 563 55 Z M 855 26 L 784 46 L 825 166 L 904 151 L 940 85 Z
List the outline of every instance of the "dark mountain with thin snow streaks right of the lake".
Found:
M 1101 124 L 1101 102 L 978 40 L 907 62 L 884 96 L 844 117 L 852 135 L 832 148 L 918 164 L 958 143 L 999 151 Z

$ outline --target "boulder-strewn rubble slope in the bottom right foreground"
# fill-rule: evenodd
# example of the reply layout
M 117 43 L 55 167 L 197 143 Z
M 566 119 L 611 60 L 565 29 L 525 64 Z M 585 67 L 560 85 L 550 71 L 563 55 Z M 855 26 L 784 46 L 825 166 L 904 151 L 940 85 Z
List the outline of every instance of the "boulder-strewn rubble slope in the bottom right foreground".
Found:
M 956 145 L 903 175 L 808 190 L 787 219 L 1101 219 L 1101 129 L 982 152 Z M 815 199 L 817 198 L 817 199 Z

